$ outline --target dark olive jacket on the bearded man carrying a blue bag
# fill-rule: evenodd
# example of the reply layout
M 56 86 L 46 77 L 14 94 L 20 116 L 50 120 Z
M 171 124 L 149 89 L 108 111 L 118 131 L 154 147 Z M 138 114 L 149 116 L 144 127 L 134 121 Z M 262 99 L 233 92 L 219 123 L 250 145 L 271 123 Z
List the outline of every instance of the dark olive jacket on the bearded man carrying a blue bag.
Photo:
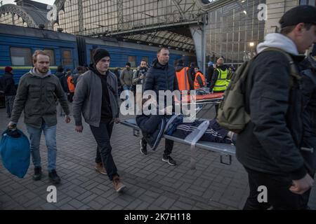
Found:
M 67 99 L 56 76 L 48 71 L 46 75 L 38 74 L 35 67 L 20 78 L 18 92 L 15 96 L 11 121 L 18 123 L 24 110 L 24 122 L 40 128 L 42 120 L 48 127 L 57 124 L 55 97 L 65 113 L 70 113 Z

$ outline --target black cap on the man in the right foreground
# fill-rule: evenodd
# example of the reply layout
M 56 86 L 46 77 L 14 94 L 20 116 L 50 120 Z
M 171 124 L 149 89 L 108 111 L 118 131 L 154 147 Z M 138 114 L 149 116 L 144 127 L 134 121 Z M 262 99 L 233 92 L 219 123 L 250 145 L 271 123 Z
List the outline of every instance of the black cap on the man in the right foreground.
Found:
M 316 25 L 316 7 L 296 6 L 284 13 L 281 20 L 279 20 L 281 28 L 298 25 L 300 22 Z

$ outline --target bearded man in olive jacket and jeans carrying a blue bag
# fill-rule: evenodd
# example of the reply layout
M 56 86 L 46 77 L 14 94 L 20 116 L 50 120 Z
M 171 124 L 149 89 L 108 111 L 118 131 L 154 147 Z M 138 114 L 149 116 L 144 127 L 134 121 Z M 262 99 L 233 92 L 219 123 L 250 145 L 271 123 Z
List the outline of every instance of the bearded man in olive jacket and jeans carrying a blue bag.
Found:
M 60 178 L 56 173 L 56 104 L 58 97 L 62 109 L 65 111 L 65 122 L 70 123 L 70 113 L 60 81 L 49 69 L 50 58 L 42 50 L 36 50 L 33 55 L 34 68 L 20 78 L 18 92 L 13 104 L 9 129 L 16 127 L 22 111 L 24 122 L 29 132 L 31 153 L 34 164 L 34 181 L 41 179 L 41 156 L 39 141 L 44 132 L 48 149 L 48 176 L 57 184 Z

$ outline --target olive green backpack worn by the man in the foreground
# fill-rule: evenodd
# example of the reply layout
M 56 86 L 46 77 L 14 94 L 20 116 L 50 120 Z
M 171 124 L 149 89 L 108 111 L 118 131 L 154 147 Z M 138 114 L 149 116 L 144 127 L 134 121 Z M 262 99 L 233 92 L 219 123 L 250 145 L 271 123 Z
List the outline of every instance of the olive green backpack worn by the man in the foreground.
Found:
M 299 80 L 301 76 L 298 75 L 296 66 L 291 56 L 287 52 L 284 52 L 283 50 L 280 50 L 278 48 L 267 48 L 263 50 L 263 52 L 267 51 L 282 52 L 287 57 L 291 66 L 291 78 L 289 87 L 293 87 L 294 81 Z M 244 89 L 242 89 L 242 86 L 246 82 L 246 78 L 249 73 L 249 67 L 258 55 L 252 58 L 249 62 L 244 62 L 237 69 L 234 77 L 230 81 L 230 85 L 228 85 L 227 89 L 224 92 L 222 102 L 220 102 L 220 105 L 218 106 L 216 120 L 220 124 L 220 126 L 224 127 L 226 130 L 230 130 L 231 132 L 242 132 L 242 130 L 244 130 L 244 127 L 246 127 L 246 124 L 250 121 L 250 115 L 246 113 L 245 110 Z M 245 87 L 250 86 L 246 85 Z

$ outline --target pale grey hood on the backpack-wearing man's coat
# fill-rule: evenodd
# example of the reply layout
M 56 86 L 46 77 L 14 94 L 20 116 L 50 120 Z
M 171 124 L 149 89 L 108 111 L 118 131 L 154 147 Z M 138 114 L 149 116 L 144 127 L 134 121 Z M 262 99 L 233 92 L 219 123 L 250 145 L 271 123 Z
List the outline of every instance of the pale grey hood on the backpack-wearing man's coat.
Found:
M 267 48 L 279 48 L 291 55 L 300 55 L 295 43 L 289 37 L 282 34 L 268 34 L 265 36 L 265 41 L 258 44 L 257 52 L 260 53 Z

